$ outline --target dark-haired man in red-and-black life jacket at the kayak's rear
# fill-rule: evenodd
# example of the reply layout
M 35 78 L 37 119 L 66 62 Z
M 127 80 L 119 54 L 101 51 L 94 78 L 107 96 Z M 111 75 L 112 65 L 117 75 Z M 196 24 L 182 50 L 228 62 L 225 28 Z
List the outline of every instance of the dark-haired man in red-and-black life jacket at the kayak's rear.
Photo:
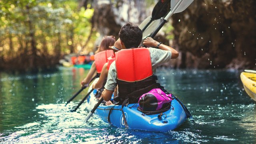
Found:
M 138 48 L 142 31 L 131 23 L 121 28 L 119 38 L 122 50 L 116 52 L 115 61 L 110 65 L 102 96 L 109 101 L 118 85 L 118 96 L 114 100 L 124 106 L 126 103 L 137 103 L 142 94 L 161 87 L 156 83 L 153 72 L 157 66 L 177 58 L 179 53 L 150 37 L 143 42 L 149 48 Z

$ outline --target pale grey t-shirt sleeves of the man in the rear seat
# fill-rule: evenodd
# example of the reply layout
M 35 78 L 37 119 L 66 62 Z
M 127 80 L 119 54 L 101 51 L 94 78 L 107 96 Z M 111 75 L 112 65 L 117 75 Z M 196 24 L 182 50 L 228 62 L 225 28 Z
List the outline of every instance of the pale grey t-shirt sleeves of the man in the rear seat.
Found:
M 156 48 L 148 48 L 151 58 L 152 70 L 155 73 L 156 67 L 169 62 L 172 57 L 172 52 L 160 50 Z M 108 70 L 108 80 L 105 84 L 107 90 L 114 90 L 117 85 L 116 62 L 112 62 Z

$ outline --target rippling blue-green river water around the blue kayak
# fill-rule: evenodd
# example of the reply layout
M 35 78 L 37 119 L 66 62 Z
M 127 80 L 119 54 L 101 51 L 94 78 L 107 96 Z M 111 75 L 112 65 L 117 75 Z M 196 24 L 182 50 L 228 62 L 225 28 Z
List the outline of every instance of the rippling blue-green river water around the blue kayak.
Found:
M 239 71 L 159 68 L 158 81 L 195 120 L 168 132 L 116 128 L 97 116 L 84 123 L 85 105 L 68 112 L 87 92 L 65 106 L 87 72 L 60 67 L 40 74 L 0 73 L 0 142 L 256 143 L 256 106 L 243 89 Z

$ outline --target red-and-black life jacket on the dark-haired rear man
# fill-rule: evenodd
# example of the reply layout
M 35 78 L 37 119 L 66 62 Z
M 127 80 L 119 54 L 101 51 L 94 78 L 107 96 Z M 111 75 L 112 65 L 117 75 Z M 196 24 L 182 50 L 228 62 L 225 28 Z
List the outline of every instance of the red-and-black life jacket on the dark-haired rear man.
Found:
M 136 103 L 142 94 L 156 88 L 156 78 L 153 76 L 150 52 L 147 48 L 116 52 L 116 73 L 119 94 L 115 101 L 120 102 L 118 104 Z

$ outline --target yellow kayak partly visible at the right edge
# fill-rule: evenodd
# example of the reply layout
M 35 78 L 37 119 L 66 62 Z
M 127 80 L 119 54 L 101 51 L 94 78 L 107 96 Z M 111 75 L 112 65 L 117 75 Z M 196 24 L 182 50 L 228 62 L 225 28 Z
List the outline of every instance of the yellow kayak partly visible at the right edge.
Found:
M 245 71 L 246 72 L 242 72 L 240 74 L 241 81 L 244 85 L 244 90 L 254 101 L 256 101 L 256 71 Z

